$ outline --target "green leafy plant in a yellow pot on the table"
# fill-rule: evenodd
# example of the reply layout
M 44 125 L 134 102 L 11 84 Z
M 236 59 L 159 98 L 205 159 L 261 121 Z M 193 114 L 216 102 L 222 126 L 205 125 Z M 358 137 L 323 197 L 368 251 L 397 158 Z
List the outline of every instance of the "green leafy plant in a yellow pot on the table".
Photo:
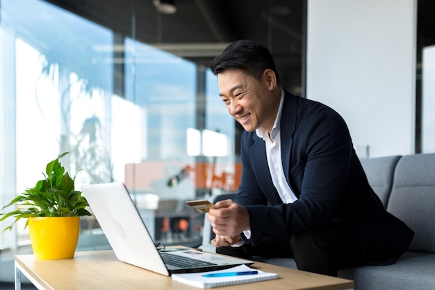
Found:
M 74 178 L 60 164 L 58 155 L 49 162 L 42 175 L 44 179 L 35 187 L 27 188 L 11 200 L 1 211 L 17 206 L 13 211 L 0 214 L 0 221 L 9 217 L 15 220 L 3 229 L 12 229 L 22 218 L 27 218 L 31 245 L 36 259 L 67 259 L 74 257 L 80 231 L 80 216 L 90 216 L 88 201 L 81 191 L 74 189 Z

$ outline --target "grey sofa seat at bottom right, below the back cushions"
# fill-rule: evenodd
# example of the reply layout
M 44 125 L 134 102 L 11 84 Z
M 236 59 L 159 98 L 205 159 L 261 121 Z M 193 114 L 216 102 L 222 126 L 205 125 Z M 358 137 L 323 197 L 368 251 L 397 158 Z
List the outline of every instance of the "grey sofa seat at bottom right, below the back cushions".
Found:
M 431 289 L 434 265 L 434 254 L 405 252 L 395 264 L 347 268 L 338 271 L 338 277 L 354 280 L 358 290 Z

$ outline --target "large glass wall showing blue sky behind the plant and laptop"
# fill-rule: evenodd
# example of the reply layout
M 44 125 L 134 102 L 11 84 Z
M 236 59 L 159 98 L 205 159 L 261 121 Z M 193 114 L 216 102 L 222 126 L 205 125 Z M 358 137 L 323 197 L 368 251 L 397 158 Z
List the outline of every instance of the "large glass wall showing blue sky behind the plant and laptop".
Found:
M 0 3 L 0 205 L 69 152 L 60 161 L 76 188 L 124 182 L 156 242 L 198 246 L 204 216 L 185 201 L 238 185 L 215 76 L 45 1 Z M 24 222 L 0 235 L 2 259 L 28 245 Z M 78 250 L 104 248 L 95 218 L 82 218 Z

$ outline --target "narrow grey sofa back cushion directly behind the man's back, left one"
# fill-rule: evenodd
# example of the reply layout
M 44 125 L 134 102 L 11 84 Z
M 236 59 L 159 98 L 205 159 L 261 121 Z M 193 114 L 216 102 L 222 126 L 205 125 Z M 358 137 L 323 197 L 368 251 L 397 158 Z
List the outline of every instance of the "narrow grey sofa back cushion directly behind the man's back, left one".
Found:
M 386 208 L 393 186 L 393 175 L 400 155 L 361 159 L 368 183 Z

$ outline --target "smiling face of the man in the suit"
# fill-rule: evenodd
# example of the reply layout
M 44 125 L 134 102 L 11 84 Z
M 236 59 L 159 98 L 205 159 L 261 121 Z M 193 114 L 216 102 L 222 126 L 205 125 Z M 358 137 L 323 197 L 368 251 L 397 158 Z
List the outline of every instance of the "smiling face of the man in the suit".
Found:
M 276 110 L 272 89 L 266 70 L 261 79 L 246 74 L 243 70 L 224 70 L 217 75 L 220 97 L 229 113 L 246 131 L 254 131 L 259 127 L 272 129 Z

